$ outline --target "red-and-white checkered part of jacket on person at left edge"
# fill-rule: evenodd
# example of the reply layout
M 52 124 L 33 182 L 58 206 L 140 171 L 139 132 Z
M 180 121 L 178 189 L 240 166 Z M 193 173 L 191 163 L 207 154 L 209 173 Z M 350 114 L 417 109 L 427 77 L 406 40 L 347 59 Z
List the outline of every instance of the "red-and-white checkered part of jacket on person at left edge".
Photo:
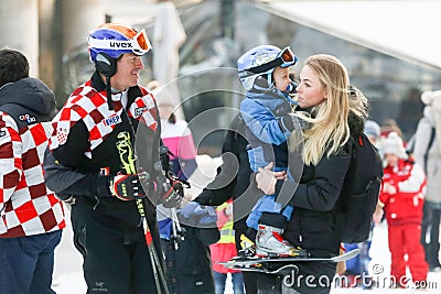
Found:
M 44 184 L 43 155 L 51 122 L 18 130 L 0 112 L 0 238 L 44 233 L 66 226 L 61 202 Z

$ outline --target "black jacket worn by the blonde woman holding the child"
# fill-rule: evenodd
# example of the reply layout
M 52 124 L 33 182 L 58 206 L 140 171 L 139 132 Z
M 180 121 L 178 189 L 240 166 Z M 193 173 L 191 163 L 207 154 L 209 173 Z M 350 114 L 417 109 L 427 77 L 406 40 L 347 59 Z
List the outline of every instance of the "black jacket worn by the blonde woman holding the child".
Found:
M 351 112 L 351 133 L 361 134 L 363 126 L 363 120 Z M 294 207 L 284 232 L 286 239 L 294 246 L 321 257 L 338 254 L 341 240 L 336 220 L 343 199 L 341 195 L 347 188 L 344 182 L 351 164 L 351 142 L 347 142 L 337 154 L 330 157 L 324 155 L 315 166 L 304 165 L 299 184 L 278 181 L 278 197 L 291 195 L 289 204 Z M 290 170 L 299 167 L 294 165 Z

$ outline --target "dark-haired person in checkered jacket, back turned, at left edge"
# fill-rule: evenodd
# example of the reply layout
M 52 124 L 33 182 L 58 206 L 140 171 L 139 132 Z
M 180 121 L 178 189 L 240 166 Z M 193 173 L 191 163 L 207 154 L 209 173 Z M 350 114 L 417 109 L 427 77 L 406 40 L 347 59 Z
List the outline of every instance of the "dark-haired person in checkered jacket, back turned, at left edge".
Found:
M 29 77 L 26 57 L 0 51 L 0 293 L 51 290 L 54 250 L 66 226 L 44 183 L 43 155 L 55 97 Z

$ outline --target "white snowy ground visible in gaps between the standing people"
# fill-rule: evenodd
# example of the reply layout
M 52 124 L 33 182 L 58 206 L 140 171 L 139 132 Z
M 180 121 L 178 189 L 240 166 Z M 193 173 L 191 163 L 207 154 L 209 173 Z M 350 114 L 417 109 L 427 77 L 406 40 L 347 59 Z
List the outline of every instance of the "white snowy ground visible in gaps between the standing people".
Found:
M 193 196 L 198 194 L 201 186 L 204 186 L 204 182 L 209 182 L 214 176 L 216 166 L 219 164 L 218 159 L 211 160 L 206 155 L 197 157 L 200 166 L 198 178 L 194 179 L 192 190 L 190 192 Z M 191 178 L 192 179 L 192 178 Z M 192 183 L 192 184 L 193 184 Z M 58 294 L 80 294 L 86 293 L 86 284 L 83 279 L 82 262 L 83 259 L 78 251 L 74 248 L 72 240 L 72 227 L 69 222 L 69 214 L 66 209 L 67 228 L 63 232 L 61 244 L 55 251 L 55 269 L 54 269 L 54 291 Z M 419 238 L 416 236 L 415 238 Z M 387 225 L 383 222 L 374 229 L 374 238 L 370 248 L 370 275 L 376 281 L 385 281 L 385 277 L 389 274 L 390 266 L 390 253 L 387 244 Z M 428 282 L 430 287 L 426 293 L 440 293 L 441 291 L 441 272 L 429 273 Z M 383 284 L 383 283 L 381 283 Z M 232 283 L 227 280 L 227 291 L 225 293 L 233 293 Z M 420 293 L 421 291 L 412 290 L 411 287 L 405 290 L 389 290 L 386 286 L 374 287 L 375 293 Z M 362 293 L 365 292 L 362 288 L 336 288 L 334 287 L 331 293 Z

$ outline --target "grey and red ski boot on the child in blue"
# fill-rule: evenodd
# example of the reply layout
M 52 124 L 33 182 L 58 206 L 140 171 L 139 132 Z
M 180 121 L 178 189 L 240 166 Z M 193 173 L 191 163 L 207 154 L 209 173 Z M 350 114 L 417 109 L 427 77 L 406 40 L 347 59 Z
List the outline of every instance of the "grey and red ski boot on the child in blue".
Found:
M 281 236 L 283 229 L 259 225 L 256 237 L 256 255 L 259 258 L 288 258 L 303 255 L 304 250 L 290 244 Z

